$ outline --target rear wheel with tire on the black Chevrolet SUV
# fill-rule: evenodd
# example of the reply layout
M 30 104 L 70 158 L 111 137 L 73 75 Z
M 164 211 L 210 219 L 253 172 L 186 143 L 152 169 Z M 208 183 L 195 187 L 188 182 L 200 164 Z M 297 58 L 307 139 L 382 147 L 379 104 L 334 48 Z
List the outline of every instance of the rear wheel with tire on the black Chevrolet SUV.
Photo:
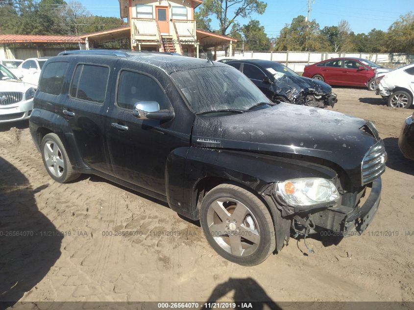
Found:
M 80 173 L 73 169 L 68 153 L 58 135 L 47 134 L 42 139 L 41 151 L 46 171 L 56 182 L 67 183 L 80 176 Z

